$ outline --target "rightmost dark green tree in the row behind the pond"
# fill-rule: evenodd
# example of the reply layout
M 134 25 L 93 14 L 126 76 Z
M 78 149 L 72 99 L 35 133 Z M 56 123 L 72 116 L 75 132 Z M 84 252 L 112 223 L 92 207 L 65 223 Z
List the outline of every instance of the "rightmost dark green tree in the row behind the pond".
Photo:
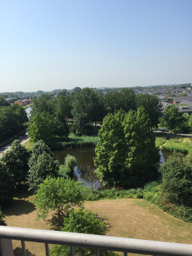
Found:
M 142 94 L 136 95 L 136 106 L 140 108 L 143 106 L 151 121 L 151 127 L 158 127 L 158 119 L 161 113 L 162 104 L 159 103 L 159 99 L 155 95 Z

